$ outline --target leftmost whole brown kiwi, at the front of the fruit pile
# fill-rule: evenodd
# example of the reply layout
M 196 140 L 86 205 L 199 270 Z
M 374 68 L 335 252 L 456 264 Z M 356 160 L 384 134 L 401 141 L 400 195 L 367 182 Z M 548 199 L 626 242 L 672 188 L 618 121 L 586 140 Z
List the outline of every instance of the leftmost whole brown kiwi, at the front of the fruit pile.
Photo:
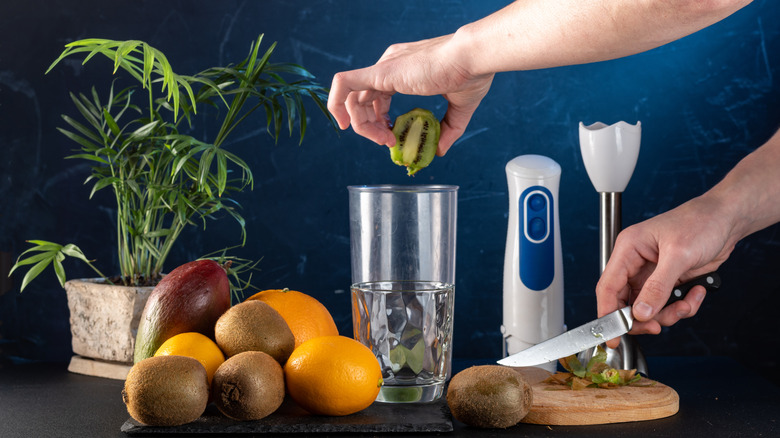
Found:
M 147 426 L 180 426 L 197 420 L 209 401 L 206 369 L 185 356 L 156 356 L 130 368 L 122 401 Z

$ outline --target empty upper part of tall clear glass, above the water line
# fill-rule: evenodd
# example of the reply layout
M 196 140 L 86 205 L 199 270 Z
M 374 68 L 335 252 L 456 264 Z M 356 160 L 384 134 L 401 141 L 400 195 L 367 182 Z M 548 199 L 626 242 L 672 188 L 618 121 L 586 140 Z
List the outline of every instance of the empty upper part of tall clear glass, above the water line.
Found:
M 352 283 L 455 284 L 458 187 L 349 186 Z

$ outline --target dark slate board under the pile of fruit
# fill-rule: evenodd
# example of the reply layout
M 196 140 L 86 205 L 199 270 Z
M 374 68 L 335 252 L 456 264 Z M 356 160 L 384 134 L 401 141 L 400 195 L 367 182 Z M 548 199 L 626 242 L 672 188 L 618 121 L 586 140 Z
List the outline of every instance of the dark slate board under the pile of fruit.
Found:
M 121 431 L 128 435 L 451 432 L 452 414 L 443 397 L 426 404 L 375 402 L 343 417 L 311 415 L 288 399 L 276 412 L 257 421 L 231 420 L 209 404 L 206 412 L 192 423 L 155 427 L 141 425 L 131 418 L 122 425 Z

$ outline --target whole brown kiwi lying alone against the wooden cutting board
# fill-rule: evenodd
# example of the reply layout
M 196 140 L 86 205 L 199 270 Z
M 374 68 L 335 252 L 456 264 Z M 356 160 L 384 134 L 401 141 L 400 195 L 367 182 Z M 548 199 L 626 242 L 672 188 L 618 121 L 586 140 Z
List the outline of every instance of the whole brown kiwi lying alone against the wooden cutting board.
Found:
M 480 365 L 467 368 L 450 380 L 447 405 L 456 420 L 481 428 L 507 428 L 531 410 L 533 391 L 512 368 Z

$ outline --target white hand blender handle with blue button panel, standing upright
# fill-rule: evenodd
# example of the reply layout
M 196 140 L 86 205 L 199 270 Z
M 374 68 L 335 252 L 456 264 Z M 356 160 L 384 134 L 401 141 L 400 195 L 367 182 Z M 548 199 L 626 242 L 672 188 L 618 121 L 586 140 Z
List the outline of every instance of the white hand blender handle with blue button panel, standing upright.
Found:
M 504 256 L 503 354 L 517 353 L 566 331 L 558 221 L 561 166 L 540 155 L 506 165 L 509 225 Z M 555 372 L 556 362 L 541 365 Z

